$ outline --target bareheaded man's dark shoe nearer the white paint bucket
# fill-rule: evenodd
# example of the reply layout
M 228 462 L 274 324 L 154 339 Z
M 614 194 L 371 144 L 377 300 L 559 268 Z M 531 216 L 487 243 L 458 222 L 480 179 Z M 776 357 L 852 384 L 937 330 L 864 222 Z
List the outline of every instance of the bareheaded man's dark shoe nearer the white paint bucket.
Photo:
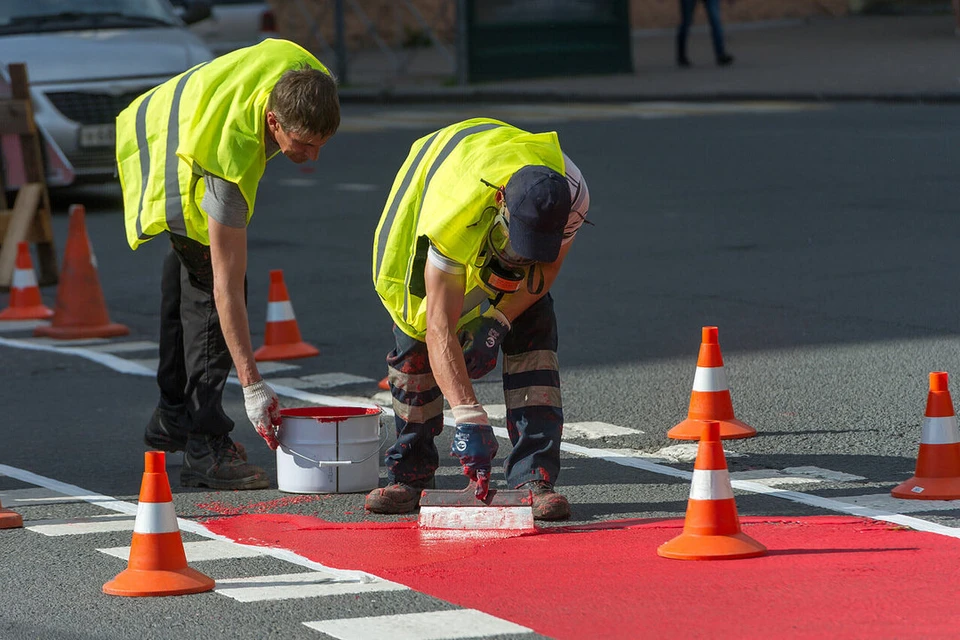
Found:
M 266 489 L 266 472 L 240 456 L 230 436 L 192 435 L 180 469 L 180 486 L 209 489 Z

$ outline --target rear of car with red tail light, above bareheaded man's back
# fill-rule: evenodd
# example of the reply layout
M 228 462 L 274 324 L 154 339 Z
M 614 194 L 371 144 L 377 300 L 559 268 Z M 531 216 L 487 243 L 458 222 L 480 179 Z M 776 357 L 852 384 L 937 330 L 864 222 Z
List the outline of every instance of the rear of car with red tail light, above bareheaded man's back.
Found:
M 266 2 L 250 0 L 171 0 L 181 12 L 210 6 L 210 17 L 190 25 L 216 55 L 249 47 L 264 38 L 276 37 L 277 25 L 273 10 Z

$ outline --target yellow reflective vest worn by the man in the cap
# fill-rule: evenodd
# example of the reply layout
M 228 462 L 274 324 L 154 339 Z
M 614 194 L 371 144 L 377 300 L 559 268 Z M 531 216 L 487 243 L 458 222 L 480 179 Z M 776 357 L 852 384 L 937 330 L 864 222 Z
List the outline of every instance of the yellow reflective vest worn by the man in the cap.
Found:
M 460 325 L 495 296 L 480 279 L 477 259 L 494 223 L 496 191 L 522 166 L 564 173 L 555 132 L 529 133 L 490 118 L 444 127 L 413 143 L 384 206 L 373 242 L 373 283 L 393 321 L 412 338 L 426 335 L 423 269 L 429 243 L 466 265 Z M 479 295 L 478 295 L 479 294 Z

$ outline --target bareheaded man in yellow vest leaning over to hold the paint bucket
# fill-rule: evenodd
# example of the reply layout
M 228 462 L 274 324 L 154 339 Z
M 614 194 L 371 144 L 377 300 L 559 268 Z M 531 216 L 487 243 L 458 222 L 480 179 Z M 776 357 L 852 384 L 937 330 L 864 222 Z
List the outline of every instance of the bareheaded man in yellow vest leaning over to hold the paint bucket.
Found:
M 268 39 L 151 89 L 117 116 L 127 241 L 171 243 L 161 280 L 160 400 L 146 444 L 184 451 L 180 484 L 263 489 L 264 470 L 230 438 L 231 366 L 246 413 L 276 449 L 280 403 L 253 357 L 247 224 L 267 160 L 316 160 L 340 125 L 336 81 L 312 54 Z

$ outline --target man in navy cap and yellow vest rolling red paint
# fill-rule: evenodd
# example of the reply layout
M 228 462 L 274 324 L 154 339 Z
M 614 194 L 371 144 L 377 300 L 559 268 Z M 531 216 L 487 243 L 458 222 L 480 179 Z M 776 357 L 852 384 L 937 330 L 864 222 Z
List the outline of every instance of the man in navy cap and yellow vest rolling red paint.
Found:
M 492 371 L 502 349 L 507 485 L 532 491 L 535 518 L 569 517 L 554 488 L 563 407 L 550 287 L 589 204 L 554 132 L 474 118 L 413 144 L 374 240 L 374 286 L 394 321 L 397 440 L 368 511 L 408 513 L 433 486 L 444 398 L 456 422 L 451 455 L 485 497 L 498 445 L 471 380 Z

